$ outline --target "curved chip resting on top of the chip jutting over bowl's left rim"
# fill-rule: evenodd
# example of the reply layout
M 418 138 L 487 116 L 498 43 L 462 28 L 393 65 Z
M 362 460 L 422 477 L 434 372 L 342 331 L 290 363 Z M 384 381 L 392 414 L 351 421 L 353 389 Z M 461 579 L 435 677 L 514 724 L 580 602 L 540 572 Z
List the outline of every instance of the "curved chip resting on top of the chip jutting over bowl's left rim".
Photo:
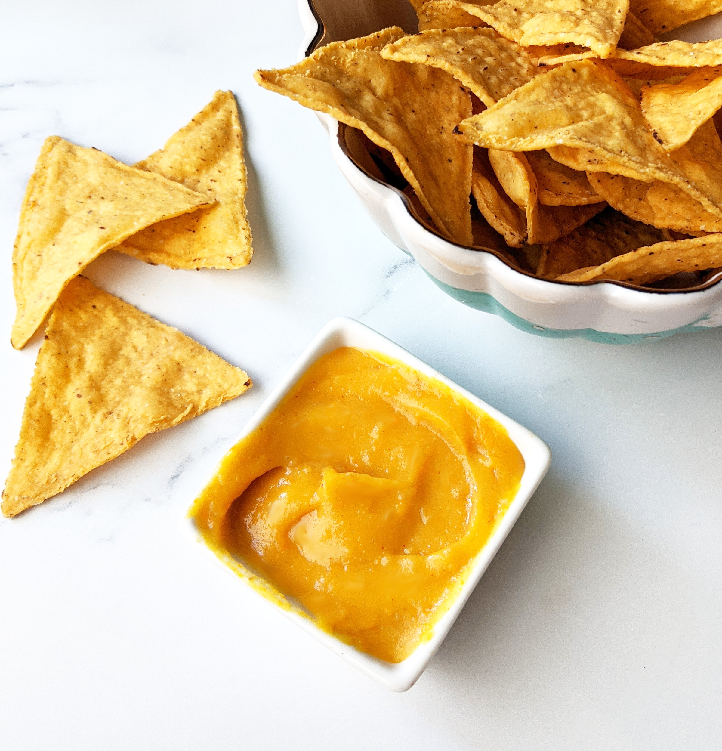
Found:
M 539 75 L 536 59 L 493 29 L 421 32 L 387 45 L 381 57 L 441 68 L 487 107 Z

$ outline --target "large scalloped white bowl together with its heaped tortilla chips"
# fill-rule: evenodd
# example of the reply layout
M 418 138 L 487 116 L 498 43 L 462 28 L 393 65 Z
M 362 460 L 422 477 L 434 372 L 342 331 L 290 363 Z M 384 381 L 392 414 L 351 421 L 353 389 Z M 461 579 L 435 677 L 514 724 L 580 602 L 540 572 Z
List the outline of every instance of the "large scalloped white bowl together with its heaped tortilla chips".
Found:
M 542 336 L 722 325 L 722 0 L 299 11 L 299 62 L 257 83 L 317 111 L 441 289 Z

